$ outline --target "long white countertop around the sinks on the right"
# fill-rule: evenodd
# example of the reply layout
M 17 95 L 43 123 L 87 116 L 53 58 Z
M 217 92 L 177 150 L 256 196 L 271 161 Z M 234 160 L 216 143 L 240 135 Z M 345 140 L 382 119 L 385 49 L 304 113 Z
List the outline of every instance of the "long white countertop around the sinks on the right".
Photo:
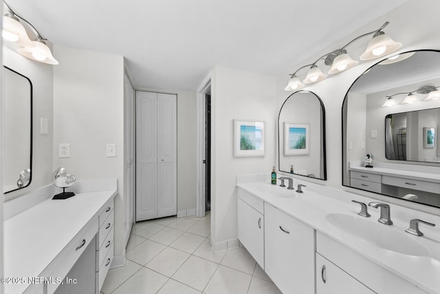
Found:
M 279 184 L 279 182 L 278 182 Z M 247 182 L 239 183 L 237 187 L 252 193 L 257 198 L 272 206 L 284 211 L 289 216 L 300 220 L 320 231 L 321 233 L 344 244 L 349 249 L 359 253 L 369 260 L 383 266 L 388 271 L 403 277 L 412 284 L 415 284 L 428 293 L 440 293 L 440 217 L 433 216 L 420 211 L 413 211 L 390 204 L 391 220 L 394 224 L 387 226 L 390 230 L 401 231 L 404 234 L 412 218 L 420 218 L 428 222 L 434 222 L 434 229 L 421 225 L 420 229 L 425 235 L 417 237 L 408 236 L 420 242 L 429 251 L 426 257 L 405 255 L 388 251 L 360 238 L 345 233 L 334 227 L 326 219 L 328 213 L 343 213 L 353 217 L 359 217 L 360 205 L 351 202 L 358 200 L 368 204 L 371 201 L 377 201 L 340 189 L 316 185 L 305 180 L 294 179 L 295 187 L 298 184 L 307 185 L 303 187 L 304 193 L 296 193 L 294 190 L 287 190 L 285 187 L 271 185 L 270 182 Z M 381 202 L 381 201 L 378 201 Z M 369 222 L 377 222 L 380 217 L 380 210 L 369 207 L 371 218 L 363 218 Z M 380 224 L 382 225 L 382 224 Z M 385 225 L 384 225 L 385 226 Z M 423 226 L 423 227 L 422 227 Z

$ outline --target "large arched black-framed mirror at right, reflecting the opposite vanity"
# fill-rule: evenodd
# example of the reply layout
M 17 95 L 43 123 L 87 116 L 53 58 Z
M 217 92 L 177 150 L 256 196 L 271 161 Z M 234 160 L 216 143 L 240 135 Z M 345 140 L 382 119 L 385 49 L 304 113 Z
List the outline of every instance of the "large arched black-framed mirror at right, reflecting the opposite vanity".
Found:
M 342 106 L 342 184 L 440 207 L 439 89 L 436 50 L 364 72 Z

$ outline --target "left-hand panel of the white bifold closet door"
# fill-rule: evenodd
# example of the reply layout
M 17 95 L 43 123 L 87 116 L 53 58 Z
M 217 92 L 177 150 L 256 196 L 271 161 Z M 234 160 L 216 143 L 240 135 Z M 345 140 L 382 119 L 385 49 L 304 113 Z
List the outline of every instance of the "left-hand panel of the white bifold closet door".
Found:
M 136 221 L 157 217 L 157 93 L 136 92 Z

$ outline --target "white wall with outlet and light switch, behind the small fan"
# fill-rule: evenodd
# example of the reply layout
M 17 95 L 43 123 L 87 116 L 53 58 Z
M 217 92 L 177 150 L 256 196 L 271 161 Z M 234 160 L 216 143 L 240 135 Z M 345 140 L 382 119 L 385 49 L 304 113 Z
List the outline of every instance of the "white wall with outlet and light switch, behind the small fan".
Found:
M 115 255 L 124 255 L 124 59 L 56 45 L 54 55 L 54 165 L 76 180 L 118 179 Z M 58 158 L 58 143 L 70 158 Z M 107 143 L 116 157 L 106 157 Z

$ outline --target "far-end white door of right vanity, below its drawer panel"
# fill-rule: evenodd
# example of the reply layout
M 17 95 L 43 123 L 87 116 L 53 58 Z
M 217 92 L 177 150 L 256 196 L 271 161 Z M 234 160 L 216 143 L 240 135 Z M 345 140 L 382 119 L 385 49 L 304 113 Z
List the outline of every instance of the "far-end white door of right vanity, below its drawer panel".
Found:
M 239 199 L 239 240 L 264 269 L 264 219 L 263 215 Z

